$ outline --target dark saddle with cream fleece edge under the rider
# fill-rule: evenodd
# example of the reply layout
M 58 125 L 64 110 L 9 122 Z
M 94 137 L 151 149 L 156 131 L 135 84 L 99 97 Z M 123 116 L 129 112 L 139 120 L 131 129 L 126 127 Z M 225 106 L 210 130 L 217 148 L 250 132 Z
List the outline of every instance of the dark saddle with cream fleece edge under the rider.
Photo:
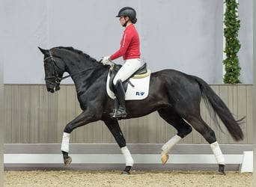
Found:
M 120 70 L 121 67 L 122 67 L 121 64 L 113 64 L 112 67 L 110 67 L 110 69 L 109 69 L 109 76 L 110 76 L 109 89 L 114 93 L 116 93 L 116 91 L 115 91 L 115 86 L 114 86 L 113 80 L 114 80 L 116 74 L 118 73 L 118 71 Z M 144 78 L 144 77 L 149 76 L 149 75 L 150 75 L 150 73 L 147 72 L 147 63 L 144 63 L 129 78 L 140 79 L 140 78 Z M 127 91 L 128 84 L 130 84 L 132 87 L 134 87 L 134 85 L 132 85 L 132 82 L 129 82 L 129 79 L 127 79 L 123 82 L 124 91 Z

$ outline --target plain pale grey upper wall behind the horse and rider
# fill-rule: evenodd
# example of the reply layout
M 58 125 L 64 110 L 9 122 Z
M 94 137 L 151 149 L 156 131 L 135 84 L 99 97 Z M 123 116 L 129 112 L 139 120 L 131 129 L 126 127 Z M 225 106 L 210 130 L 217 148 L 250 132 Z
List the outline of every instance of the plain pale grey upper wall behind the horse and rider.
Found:
M 4 83 L 44 83 L 37 46 L 73 46 L 97 59 L 111 55 L 124 31 L 115 18 L 124 6 L 138 12 L 141 53 L 152 71 L 173 68 L 222 83 L 222 0 L 6 0 Z M 252 84 L 252 0 L 240 1 L 239 13 L 241 80 Z

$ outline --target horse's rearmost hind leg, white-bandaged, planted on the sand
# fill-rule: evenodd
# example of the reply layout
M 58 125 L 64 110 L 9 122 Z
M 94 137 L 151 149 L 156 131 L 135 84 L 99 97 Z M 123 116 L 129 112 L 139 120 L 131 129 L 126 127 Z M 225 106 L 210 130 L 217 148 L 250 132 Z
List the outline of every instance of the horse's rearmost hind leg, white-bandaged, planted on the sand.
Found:
M 219 172 L 221 174 L 225 174 L 225 159 L 222 154 L 222 150 L 219 147 L 218 141 L 216 141 L 216 136 L 213 129 L 204 122 L 201 116 L 198 114 L 195 116 L 186 117 L 186 120 L 197 130 L 205 140 L 210 144 L 211 149 L 213 150 L 213 154 L 216 158 L 216 162 L 219 164 Z

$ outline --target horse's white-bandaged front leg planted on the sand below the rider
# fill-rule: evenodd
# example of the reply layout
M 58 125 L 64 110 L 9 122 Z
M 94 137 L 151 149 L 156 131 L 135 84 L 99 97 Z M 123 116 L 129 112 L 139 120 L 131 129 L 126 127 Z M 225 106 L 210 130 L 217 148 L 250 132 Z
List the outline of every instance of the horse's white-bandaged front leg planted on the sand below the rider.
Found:
M 121 128 L 118 124 L 118 120 L 109 118 L 105 119 L 104 123 L 106 124 L 106 126 L 108 126 L 110 132 L 115 138 L 115 141 L 117 141 L 119 147 L 121 148 L 121 152 L 124 155 L 126 167 L 124 168 L 122 174 L 130 174 L 129 171 L 131 170 L 134 162 L 132 159 L 132 155 L 131 153 L 129 153 L 129 150 L 127 148 L 127 143 L 125 141 L 123 132 L 121 131 Z

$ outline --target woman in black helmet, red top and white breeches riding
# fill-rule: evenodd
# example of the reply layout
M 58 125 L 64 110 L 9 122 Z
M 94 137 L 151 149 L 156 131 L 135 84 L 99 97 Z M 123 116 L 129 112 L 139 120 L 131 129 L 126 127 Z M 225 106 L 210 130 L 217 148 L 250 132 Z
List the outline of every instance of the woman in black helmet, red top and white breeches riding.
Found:
M 121 25 L 125 27 L 121 46 L 113 55 L 103 57 L 101 62 L 105 65 L 109 61 L 113 61 L 121 56 L 124 58 L 124 65 L 118 71 L 113 81 L 116 92 L 115 102 L 118 103 L 118 106 L 115 106 L 115 110 L 111 113 L 112 117 L 121 118 L 127 117 L 125 91 L 122 82 L 127 80 L 129 76 L 132 76 L 142 66 L 142 62 L 140 60 L 139 36 L 133 25 L 137 22 L 135 10 L 132 7 L 123 7 L 119 10 L 116 17 L 119 17 Z

